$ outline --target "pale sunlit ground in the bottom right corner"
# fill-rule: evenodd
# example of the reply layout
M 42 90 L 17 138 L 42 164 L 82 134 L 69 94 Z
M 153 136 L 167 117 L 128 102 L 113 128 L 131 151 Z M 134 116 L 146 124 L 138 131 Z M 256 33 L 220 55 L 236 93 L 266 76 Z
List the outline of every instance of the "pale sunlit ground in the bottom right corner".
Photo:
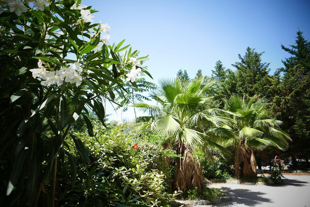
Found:
M 227 196 L 232 197 L 231 202 L 217 206 L 310 207 L 310 176 L 285 175 L 285 177 L 284 184 L 281 186 L 219 183 L 209 187 L 221 188 Z

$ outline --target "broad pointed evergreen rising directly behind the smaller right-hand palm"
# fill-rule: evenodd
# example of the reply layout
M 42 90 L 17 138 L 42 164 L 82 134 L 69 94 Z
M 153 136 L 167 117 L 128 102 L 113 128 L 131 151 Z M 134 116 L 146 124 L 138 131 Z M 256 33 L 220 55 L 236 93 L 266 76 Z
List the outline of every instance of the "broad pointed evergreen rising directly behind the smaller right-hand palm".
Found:
M 255 52 L 255 49 L 247 47 L 243 57 L 238 55 L 240 62 L 232 64 L 237 68 L 237 93 L 239 95 L 246 97 L 253 97 L 255 94 L 261 97 L 266 95 L 263 82 L 270 69 L 269 63 L 262 63 L 263 53 Z

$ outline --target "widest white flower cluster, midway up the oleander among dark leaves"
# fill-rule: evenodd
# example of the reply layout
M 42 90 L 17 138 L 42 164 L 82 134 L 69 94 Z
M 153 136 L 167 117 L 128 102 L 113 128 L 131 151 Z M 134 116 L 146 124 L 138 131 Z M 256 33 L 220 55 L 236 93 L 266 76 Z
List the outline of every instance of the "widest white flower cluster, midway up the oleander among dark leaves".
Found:
M 38 61 L 38 68 L 31 69 L 33 78 L 42 79 L 42 86 L 51 86 L 57 84 L 61 86 L 64 82 L 75 83 L 76 86 L 81 85 L 82 76 L 79 75 L 83 71 L 81 64 L 78 62 L 73 63 L 68 68 L 61 68 L 60 70 L 47 71 L 42 65 L 42 60 Z M 78 73 L 79 72 L 79 73 Z

